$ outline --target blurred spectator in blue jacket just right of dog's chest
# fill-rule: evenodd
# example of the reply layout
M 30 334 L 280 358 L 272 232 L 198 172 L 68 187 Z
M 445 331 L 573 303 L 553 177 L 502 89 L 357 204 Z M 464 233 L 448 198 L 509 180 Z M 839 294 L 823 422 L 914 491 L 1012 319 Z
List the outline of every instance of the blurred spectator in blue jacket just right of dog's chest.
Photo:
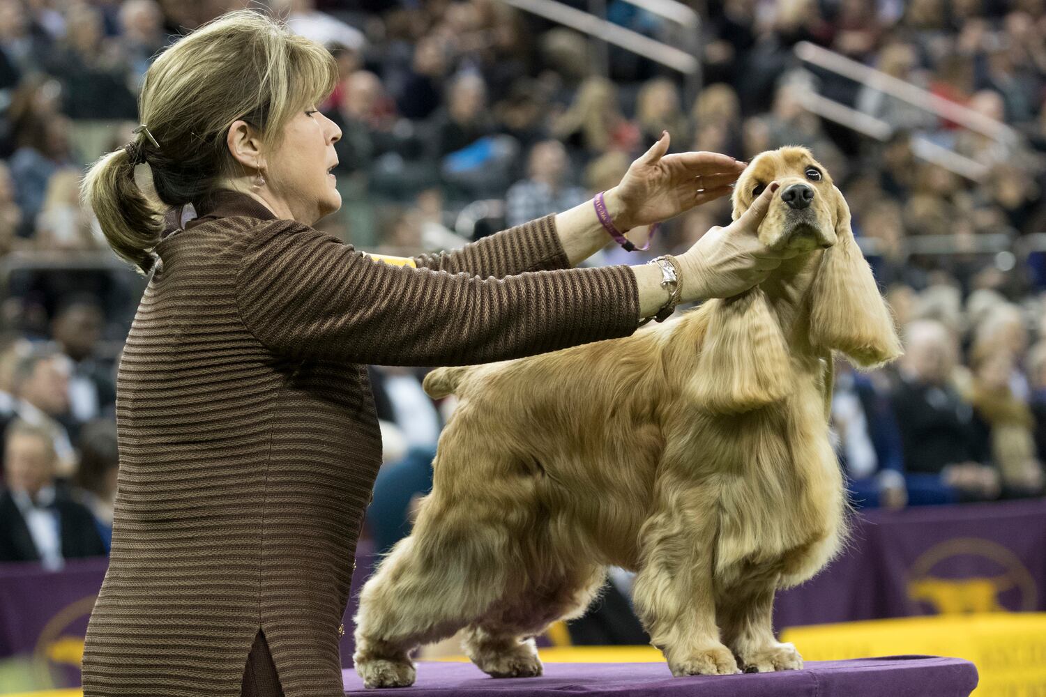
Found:
M 832 427 L 850 502 L 860 508 L 903 508 L 908 503 L 901 434 L 885 385 L 835 362 Z M 884 381 L 884 380 L 881 380 Z

